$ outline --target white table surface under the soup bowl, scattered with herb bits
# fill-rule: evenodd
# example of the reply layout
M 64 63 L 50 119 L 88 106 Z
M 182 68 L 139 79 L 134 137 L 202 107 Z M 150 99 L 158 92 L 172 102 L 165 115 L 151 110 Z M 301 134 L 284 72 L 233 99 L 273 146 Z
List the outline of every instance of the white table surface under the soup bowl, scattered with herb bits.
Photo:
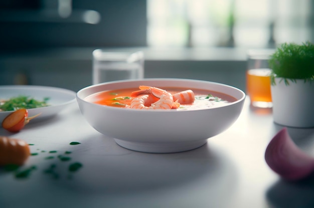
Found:
M 143 153 L 94 130 L 73 103 L 18 133 L 0 128 L 0 135 L 24 139 L 38 152 L 22 167 L 37 167 L 25 179 L 0 168 L 0 207 L 314 207 L 314 177 L 284 181 L 264 160 L 268 142 L 282 127 L 271 110 L 252 109 L 246 99 L 238 120 L 200 148 Z M 314 128 L 288 131 L 313 155 Z M 72 152 L 70 161 L 58 159 L 65 151 Z M 68 165 L 75 161 L 83 167 L 70 173 Z M 57 179 L 44 173 L 51 164 Z

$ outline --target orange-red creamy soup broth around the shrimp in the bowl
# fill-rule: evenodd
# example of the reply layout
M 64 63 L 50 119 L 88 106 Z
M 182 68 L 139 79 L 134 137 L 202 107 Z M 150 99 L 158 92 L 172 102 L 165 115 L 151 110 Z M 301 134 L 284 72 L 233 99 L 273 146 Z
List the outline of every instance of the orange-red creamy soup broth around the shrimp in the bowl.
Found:
M 179 87 L 165 87 L 165 90 L 175 94 L 177 92 L 187 90 Z M 85 98 L 86 101 L 93 102 L 96 104 L 114 106 L 114 107 L 127 107 L 132 101 L 131 92 L 138 90 L 138 88 L 124 88 L 115 90 L 106 90 L 91 94 Z M 237 99 L 231 95 L 224 94 L 217 91 L 204 90 L 204 89 L 191 89 L 195 94 L 195 101 L 190 104 L 181 104 L 180 108 L 208 108 L 211 105 L 223 105 L 224 103 L 234 102 Z M 211 96 L 209 96 L 211 95 Z M 206 99 L 207 98 L 207 99 Z M 212 101 L 208 104 L 209 100 Z M 207 100 L 207 107 L 203 106 L 203 102 Z

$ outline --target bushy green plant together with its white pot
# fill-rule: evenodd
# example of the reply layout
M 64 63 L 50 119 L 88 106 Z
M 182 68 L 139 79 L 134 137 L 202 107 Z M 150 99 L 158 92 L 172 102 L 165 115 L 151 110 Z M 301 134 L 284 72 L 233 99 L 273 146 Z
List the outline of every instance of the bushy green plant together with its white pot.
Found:
M 283 43 L 269 58 L 275 123 L 314 127 L 314 44 Z

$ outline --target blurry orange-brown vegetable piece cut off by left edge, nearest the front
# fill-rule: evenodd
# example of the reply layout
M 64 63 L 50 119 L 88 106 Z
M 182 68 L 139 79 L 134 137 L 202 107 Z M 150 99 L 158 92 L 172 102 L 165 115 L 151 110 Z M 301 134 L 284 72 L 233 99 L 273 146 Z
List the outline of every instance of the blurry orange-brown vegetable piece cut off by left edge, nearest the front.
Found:
M 0 136 L 0 165 L 22 165 L 29 156 L 30 147 L 26 141 Z

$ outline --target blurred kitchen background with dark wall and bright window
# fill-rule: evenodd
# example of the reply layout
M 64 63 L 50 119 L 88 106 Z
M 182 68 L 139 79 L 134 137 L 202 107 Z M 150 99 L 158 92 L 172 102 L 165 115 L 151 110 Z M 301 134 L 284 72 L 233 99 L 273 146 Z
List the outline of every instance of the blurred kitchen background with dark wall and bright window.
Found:
M 314 41 L 314 0 L 0 1 L 0 84 L 79 90 L 92 51 L 143 50 L 146 78 L 245 90 L 246 52 Z

